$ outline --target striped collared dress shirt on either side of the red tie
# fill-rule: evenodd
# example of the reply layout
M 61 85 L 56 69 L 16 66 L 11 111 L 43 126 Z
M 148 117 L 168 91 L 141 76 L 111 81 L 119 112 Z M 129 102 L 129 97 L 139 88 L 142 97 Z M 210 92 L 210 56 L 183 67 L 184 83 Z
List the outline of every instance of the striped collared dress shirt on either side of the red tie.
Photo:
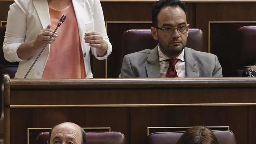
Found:
M 158 54 L 159 54 L 159 64 L 160 64 L 160 76 L 166 77 L 166 72 L 167 72 L 167 69 L 169 68 L 169 62 L 166 60 L 170 58 L 161 52 L 159 46 L 158 46 Z M 175 65 L 175 69 L 177 71 L 178 77 L 186 77 L 184 49 L 182 50 L 181 54 L 176 58 L 179 59 Z

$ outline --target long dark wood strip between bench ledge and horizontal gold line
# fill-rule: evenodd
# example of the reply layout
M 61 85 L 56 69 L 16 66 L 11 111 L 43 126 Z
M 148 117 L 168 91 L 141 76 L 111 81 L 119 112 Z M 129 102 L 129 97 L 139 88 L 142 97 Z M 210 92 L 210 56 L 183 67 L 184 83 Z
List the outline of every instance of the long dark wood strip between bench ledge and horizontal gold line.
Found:
M 180 104 L 180 103 L 256 103 L 255 88 L 132 88 L 130 90 L 37 90 L 13 91 L 11 105 L 119 105 L 119 104 Z M 29 95 L 27 95 L 29 92 Z M 193 96 L 188 95 L 193 92 Z M 40 95 L 38 94 L 40 93 Z M 104 95 L 102 95 L 102 93 Z M 249 94 L 251 93 L 251 94 Z M 244 95 L 247 94 L 247 95 Z M 62 95 L 62 99 L 58 99 Z M 76 99 L 72 99 L 76 96 Z M 92 97 L 93 95 L 93 97 Z M 122 98 L 120 98 L 122 95 Z M 178 96 L 176 96 L 178 95 Z M 203 95 L 203 96 L 202 96 Z M 228 95 L 228 98 L 223 97 Z M 241 97 L 243 95 L 243 97 Z M 41 98 L 43 96 L 43 98 Z M 155 99 L 155 98 L 159 99 Z M 230 99 L 229 99 L 230 98 Z M 24 101 L 24 99 L 27 99 Z M 52 99 L 54 101 L 52 101 Z M 83 101 L 87 99 L 87 101 Z

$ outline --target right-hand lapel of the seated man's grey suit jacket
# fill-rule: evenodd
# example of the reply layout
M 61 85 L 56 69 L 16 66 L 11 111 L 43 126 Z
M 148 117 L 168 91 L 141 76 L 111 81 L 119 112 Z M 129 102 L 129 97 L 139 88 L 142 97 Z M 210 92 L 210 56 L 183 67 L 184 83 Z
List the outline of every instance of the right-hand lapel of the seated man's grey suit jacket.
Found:
M 184 48 L 184 55 L 187 77 L 199 77 L 198 68 L 195 67 L 196 61 L 188 48 Z

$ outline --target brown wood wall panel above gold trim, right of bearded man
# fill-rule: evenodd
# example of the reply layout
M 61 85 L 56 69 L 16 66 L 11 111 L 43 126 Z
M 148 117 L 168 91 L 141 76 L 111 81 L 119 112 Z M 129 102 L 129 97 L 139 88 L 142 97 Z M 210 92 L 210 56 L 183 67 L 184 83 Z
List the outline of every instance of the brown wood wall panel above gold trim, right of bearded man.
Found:
M 255 7 L 256 3 L 196 3 L 195 27 L 203 30 L 207 38 L 208 22 L 256 21 Z

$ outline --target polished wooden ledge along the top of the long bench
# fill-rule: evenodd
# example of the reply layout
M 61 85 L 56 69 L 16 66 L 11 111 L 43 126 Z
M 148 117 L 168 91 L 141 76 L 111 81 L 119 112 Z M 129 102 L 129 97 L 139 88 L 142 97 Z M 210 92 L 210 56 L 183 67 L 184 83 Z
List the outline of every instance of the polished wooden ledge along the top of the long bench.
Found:
M 7 80 L 8 81 L 8 80 Z M 127 78 L 127 79 L 10 79 L 11 88 L 186 88 L 256 87 L 256 77 Z

